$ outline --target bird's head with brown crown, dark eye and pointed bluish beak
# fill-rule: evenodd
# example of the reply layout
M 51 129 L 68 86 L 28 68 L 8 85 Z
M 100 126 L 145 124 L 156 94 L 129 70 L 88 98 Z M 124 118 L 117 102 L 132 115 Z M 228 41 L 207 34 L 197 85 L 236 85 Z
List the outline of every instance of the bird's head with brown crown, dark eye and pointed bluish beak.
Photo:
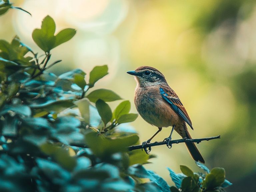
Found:
M 134 75 L 137 85 L 141 87 L 166 83 L 164 75 L 154 67 L 141 66 L 135 71 L 128 71 L 127 73 Z

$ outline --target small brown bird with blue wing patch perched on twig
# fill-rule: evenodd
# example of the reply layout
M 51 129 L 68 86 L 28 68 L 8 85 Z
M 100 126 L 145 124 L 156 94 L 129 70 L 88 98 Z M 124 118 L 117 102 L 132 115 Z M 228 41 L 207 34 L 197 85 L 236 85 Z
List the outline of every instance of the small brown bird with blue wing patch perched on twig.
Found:
M 150 143 L 163 127 L 172 126 L 170 136 L 164 139 L 168 148 L 171 148 L 173 130 L 182 138 L 192 139 L 186 125 L 187 123 L 194 130 L 192 122 L 178 95 L 168 85 L 165 76 L 150 66 L 141 66 L 127 73 L 133 75 L 137 82 L 134 103 L 138 113 L 146 122 L 158 128 L 149 140 L 142 143 L 142 150 L 149 154 L 151 147 L 147 149 L 145 145 Z M 186 141 L 185 144 L 195 161 L 205 163 L 195 143 Z

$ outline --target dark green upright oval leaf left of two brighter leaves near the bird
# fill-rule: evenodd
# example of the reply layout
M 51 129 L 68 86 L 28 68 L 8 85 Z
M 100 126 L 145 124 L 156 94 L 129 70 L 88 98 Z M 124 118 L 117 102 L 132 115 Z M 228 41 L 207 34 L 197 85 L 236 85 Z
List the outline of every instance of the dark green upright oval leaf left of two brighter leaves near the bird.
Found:
M 101 120 L 103 123 L 106 124 L 111 120 L 112 118 L 112 111 L 108 104 L 106 104 L 103 100 L 99 99 L 96 102 L 96 108 L 100 114 Z

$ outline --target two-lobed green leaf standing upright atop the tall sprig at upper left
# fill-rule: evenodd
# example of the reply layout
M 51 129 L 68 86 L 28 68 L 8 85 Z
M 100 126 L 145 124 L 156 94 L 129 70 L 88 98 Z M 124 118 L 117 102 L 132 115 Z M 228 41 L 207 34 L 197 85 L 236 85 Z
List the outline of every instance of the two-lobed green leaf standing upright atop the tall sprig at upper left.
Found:
M 32 33 L 34 42 L 45 52 L 49 52 L 54 47 L 55 29 L 54 20 L 47 15 L 42 21 L 41 29 L 35 29 Z

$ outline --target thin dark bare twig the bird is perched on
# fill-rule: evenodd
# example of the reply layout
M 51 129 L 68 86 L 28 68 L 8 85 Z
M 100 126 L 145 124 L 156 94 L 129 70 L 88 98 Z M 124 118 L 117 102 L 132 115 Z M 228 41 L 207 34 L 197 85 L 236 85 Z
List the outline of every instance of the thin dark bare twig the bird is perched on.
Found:
M 201 139 L 187 139 L 187 138 L 177 139 L 177 140 L 170 141 L 169 144 L 178 144 L 178 143 L 185 143 L 185 142 L 194 142 L 194 143 L 199 144 L 201 141 L 209 141 L 209 140 L 213 140 L 213 139 L 220 139 L 220 135 L 216 136 L 216 137 L 201 138 Z M 145 146 L 143 146 L 143 148 L 148 148 L 148 147 L 158 146 L 158 145 L 166 145 L 166 141 L 148 143 L 148 144 L 145 144 Z M 136 150 L 136 149 L 142 149 L 142 145 L 133 145 L 133 146 L 128 147 L 129 151 Z

